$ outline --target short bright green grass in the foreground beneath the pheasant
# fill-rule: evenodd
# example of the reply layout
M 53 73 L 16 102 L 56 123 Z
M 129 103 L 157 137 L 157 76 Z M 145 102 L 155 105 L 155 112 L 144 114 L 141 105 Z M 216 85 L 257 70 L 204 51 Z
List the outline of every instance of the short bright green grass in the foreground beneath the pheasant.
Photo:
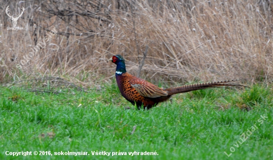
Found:
M 273 95 L 252 89 L 207 89 L 175 95 L 150 110 L 133 107 L 116 85 L 90 93 L 32 93 L 0 87 L 0 160 L 270 160 Z M 75 93 L 72 95 L 70 93 Z M 80 106 L 81 104 L 81 106 Z M 79 107 L 78 107 L 79 106 Z M 245 108 L 251 108 L 246 111 Z M 260 126 L 261 115 L 268 118 Z M 261 119 L 260 119 L 261 120 Z M 235 147 L 242 133 L 258 129 Z M 133 134 L 133 128 L 136 130 Z M 247 136 L 247 135 L 246 135 Z M 235 151 L 230 157 L 230 148 Z M 88 152 L 89 156 L 6 156 L 5 152 Z M 92 156 L 91 152 L 127 156 Z M 129 156 L 129 152 L 157 156 Z

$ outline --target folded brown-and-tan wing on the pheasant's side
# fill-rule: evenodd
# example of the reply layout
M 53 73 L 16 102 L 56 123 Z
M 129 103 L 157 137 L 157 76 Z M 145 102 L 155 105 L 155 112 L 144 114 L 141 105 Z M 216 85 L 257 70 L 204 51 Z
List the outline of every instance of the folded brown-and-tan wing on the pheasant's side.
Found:
M 143 97 L 157 98 L 168 95 L 163 89 L 135 76 L 130 79 L 129 83 Z

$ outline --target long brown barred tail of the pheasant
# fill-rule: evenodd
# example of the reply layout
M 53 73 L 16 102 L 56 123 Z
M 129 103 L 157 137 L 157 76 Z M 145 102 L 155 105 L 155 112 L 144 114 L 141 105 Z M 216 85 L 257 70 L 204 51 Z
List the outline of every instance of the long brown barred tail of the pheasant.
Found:
M 164 89 L 168 93 L 168 95 L 174 95 L 178 93 L 185 93 L 195 90 L 203 90 L 206 88 L 213 88 L 213 87 L 222 87 L 222 86 L 241 86 L 241 87 L 247 87 L 239 84 L 226 84 L 230 82 L 234 82 L 238 80 L 228 80 L 228 81 L 218 81 L 218 82 L 206 82 L 206 83 L 196 83 L 196 84 L 190 84 L 190 85 L 184 85 L 179 87 L 172 87 Z

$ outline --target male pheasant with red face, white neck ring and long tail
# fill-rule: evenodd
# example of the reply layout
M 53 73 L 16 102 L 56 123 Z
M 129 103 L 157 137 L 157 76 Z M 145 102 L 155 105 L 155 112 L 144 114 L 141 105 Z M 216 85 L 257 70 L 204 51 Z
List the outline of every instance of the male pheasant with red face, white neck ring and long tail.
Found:
M 207 83 L 197 83 L 191 85 L 184 85 L 179 87 L 172 87 L 161 89 L 148 81 L 141 78 L 133 76 L 132 74 L 126 72 L 125 59 L 117 54 L 111 59 L 113 63 L 117 65 L 116 68 L 116 80 L 118 87 L 122 96 L 133 105 L 136 104 L 137 108 L 140 109 L 143 105 L 144 108 L 150 109 L 155 107 L 158 103 L 168 100 L 172 95 L 178 93 L 185 93 L 194 90 L 202 90 L 211 87 L 220 86 L 242 86 L 226 84 L 229 82 L 234 82 L 236 80 L 229 81 L 218 81 L 218 82 L 207 82 Z M 242 86 L 245 87 L 245 86 Z

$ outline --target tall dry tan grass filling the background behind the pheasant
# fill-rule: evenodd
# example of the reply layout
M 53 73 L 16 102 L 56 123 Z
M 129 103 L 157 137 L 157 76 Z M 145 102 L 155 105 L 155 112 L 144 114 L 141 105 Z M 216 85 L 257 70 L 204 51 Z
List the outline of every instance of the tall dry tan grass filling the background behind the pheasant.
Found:
M 44 76 L 65 77 L 84 86 L 110 81 L 115 65 L 108 59 L 115 54 L 123 55 L 127 71 L 136 75 L 146 45 L 141 77 L 148 80 L 273 78 L 270 0 L 36 3 L 1 2 L 0 82 Z M 17 23 L 24 30 L 6 29 L 12 26 L 5 14 L 7 5 L 13 14 L 26 8 Z M 46 48 L 16 68 L 54 27 L 58 34 Z M 11 68 L 15 76 L 9 75 Z

